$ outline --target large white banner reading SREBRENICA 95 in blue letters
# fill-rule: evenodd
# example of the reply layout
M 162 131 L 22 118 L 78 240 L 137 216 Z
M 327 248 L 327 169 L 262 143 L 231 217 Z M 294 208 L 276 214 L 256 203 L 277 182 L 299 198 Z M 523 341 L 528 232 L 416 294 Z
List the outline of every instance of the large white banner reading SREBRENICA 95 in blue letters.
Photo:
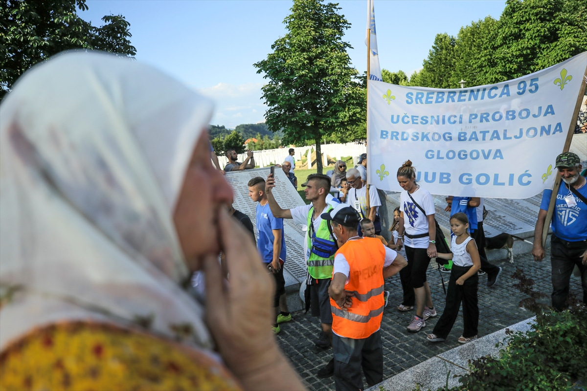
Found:
M 587 52 L 528 76 L 465 89 L 369 81 L 367 178 L 402 191 L 408 159 L 433 194 L 529 198 L 552 189 Z

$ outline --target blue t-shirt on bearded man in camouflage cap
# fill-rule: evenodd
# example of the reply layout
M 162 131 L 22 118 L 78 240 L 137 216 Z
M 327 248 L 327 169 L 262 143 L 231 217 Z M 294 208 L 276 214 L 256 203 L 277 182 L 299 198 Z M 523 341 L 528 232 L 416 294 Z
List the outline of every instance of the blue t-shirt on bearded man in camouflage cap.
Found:
M 577 189 L 577 192 L 587 198 L 587 185 Z M 566 205 L 565 197 L 569 194 L 573 196 L 577 205 Z M 540 209 L 548 210 L 551 195 L 552 190 L 546 189 L 544 191 Z M 579 240 L 587 239 L 587 205 L 571 193 L 564 182 L 561 183 L 561 187 L 558 189 L 554 210 L 556 217 L 552 216 L 551 228 L 556 237 L 567 242 L 578 242 Z

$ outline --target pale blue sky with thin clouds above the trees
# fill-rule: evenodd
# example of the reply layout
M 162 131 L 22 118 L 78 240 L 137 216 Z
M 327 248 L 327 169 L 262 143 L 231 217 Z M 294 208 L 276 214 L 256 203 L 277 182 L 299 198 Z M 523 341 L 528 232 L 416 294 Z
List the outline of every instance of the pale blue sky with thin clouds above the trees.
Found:
M 212 98 L 212 124 L 234 128 L 264 121 L 264 79 L 252 65 L 271 52 L 286 32 L 286 0 L 88 0 L 79 15 L 94 25 L 102 16 L 122 14 L 130 22 L 137 60 L 156 66 Z M 353 66 L 366 70 L 365 0 L 339 1 L 352 24 L 345 40 Z M 461 26 L 491 15 L 505 1 L 375 1 L 377 46 L 382 68 L 410 75 L 420 69 L 437 33 L 456 35 Z

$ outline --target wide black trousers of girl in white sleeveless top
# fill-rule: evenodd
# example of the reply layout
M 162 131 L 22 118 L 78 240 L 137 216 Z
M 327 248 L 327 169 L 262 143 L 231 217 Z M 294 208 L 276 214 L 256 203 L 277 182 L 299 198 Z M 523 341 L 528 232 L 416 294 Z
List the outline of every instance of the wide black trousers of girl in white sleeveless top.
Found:
M 448 280 L 446 306 L 433 331 L 440 338 L 446 339 L 453 328 L 454 321 L 458 317 L 458 309 L 461 307 L 461 301 L 463 302 L 463 336 L 470 338 L 477 335 L 479 325 L 479 307 L 477 305 L 479 276 L 475 273 L 467 278 L 463 285 L 457 285 L 458 278 L 467 273 L 470 268 L 470 266 L 463 267 L 453 264 L 450 280 Z

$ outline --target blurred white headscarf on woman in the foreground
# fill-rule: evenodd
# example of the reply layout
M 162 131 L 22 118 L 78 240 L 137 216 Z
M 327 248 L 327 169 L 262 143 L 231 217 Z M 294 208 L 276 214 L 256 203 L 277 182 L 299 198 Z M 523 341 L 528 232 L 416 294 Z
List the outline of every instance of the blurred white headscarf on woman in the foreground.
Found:
M 210 101 L 165 74 L 69 52 L 0 106 L 0 349 L 50 322 L 132 322 L 210 346 L 173 210 Z M 6 300 L 5 300 L 6 302 Z

